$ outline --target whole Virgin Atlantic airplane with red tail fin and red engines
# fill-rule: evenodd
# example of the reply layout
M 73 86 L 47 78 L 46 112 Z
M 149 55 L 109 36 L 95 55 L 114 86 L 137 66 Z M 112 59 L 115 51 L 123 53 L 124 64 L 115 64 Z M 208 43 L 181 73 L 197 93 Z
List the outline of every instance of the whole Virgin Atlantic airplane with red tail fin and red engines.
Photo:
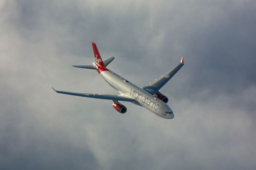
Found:
M 54 89 L 57 93 L 62 93 L 66 95 L 74 95 L 80 97 L 90 97 L 96 99 L 106 99 L 113 101 L 113 107 L 119 113 L 126 113 L 127 108 L 119 103 L 119 101 L 128 101 L 136 105 L 145 107 L 152 113 L 165 118 L 173 119 L 174 113 L 172 109 L 166 104 L 168 98 L 159 92 L 159 90 L 179 71 L 179 69 L 184 65 L 183 58 L 180 63 L 174 67 L 172 70 L 168 71 L 166 74 L 162 75 L 154 82 L 150 83 L 145 87 L 138 87 L 132 82 L 128 81 L 124 77 L 114 73 L 113 71 L 106 68 L 106 66 L 114 60 L 114 57 L 102 61 L 98 48 L 94 42 L 92 42 L 92 48 L 94 52 L 94 57 L 96 63 L 93 65 L 72 65 L 73 67 L 85 68 L 85 69 L 96 69 L 98 73 L 105 79 L 105 81 L 112 88 L 116 89 L 119 95 L 112 94 L 95 94 L 95 93 L 72 93 L 67 91 L 58 91 Z

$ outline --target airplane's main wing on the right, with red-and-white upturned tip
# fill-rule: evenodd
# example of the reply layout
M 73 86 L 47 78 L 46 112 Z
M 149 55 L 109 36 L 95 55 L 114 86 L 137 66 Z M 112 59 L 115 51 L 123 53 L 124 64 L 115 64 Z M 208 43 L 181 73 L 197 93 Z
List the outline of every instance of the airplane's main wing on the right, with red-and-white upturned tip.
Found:
M 154 95 L 159 89 L 161 89 L 184 65 L 183 58 L 180 63 L 174 67 L 174 69 L 168 71 L 168 73 L 162 75 L 158 79 L 156 79 L 153 83 L 150 83 L 148 86 L 143 87 L 145 91 Z

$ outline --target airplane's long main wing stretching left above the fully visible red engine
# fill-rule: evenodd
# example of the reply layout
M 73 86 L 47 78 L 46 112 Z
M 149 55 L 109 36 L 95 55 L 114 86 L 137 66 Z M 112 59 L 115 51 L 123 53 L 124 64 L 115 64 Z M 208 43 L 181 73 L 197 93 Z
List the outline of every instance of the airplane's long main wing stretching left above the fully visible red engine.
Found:
M 52 87 L 52 89 L 54 89 Z M 122 95 L 108 95 L 108 94 L 95 94 L 95 93 L 72 93 L 68 91 L 58 91 L 55 90 L 57 93 L 62 93 L 66 95 L 74 95 L 74 96 L 81 96 L 81 97 L 90 97 L 90 98 L 96 98 L 96 99 L 106 99 L 106 100 L 116 100 L 116 101 L 130 101 L 133 102 L 135 99 L 122 96 Z

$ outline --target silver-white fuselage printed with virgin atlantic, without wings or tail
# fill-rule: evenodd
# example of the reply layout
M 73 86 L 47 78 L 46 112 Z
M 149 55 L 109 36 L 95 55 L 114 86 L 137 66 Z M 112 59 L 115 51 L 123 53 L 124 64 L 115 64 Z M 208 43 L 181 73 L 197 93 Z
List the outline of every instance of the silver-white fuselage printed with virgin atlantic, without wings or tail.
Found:
M 111 70 L 102 71 L 100 72 L 100 75 L 102 75 L 106 82 L 116 89 L 120 95 L 136 99 L 136 102 L 133 102 L 134 104 L 143 106 L 160 117 L 166 119 L 174 118 L 172 109 L 166 103 L 134 85 L 132 82 L 124 79 L 120 75 Z

